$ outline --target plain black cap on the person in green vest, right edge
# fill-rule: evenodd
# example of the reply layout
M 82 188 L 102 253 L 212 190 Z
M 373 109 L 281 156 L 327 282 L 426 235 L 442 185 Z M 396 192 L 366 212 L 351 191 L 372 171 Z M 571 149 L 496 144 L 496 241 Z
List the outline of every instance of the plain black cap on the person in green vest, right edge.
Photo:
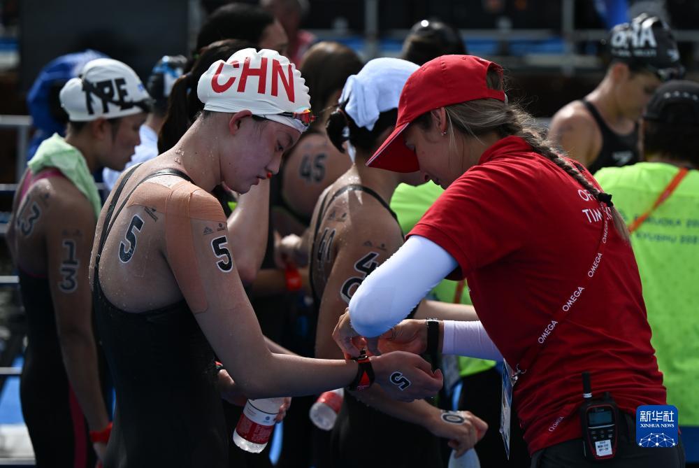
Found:
M 643 118 L 671 125 L 699 125 L 699 83 L 687 80 L 664 83 L 653 94 Z

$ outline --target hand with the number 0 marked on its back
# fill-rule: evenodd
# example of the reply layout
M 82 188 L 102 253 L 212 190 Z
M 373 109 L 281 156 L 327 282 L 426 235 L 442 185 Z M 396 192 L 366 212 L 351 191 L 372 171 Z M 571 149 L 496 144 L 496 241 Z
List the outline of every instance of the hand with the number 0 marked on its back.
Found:
M 437 437 L 449 439 L 448 445 L 458 458 L 483 438 L 488 425 L 470 411 L 442 411 L 435 408 L 425 428 Z

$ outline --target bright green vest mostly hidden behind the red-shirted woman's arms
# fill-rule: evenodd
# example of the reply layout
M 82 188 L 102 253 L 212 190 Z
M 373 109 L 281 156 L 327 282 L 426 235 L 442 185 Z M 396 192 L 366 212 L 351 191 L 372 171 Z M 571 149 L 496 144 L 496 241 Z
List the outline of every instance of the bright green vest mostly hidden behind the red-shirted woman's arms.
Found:
M 396 188 L 394 196 L 391 198 L 391 210 L 398 215 L 398 222 L 405 234 L 414 227 L 422 218 L 427 209 L 432 206 L 435 200 L 444 192 L 442 187 L 433 183 L 425 183 L 418 187 L 401 184 Z M 456 294 L 456 281 L 444 280 L 433 290 L 432 294 L 438 301 L 454 302 Z M 463 289 L 467 291 L 467 288 Z M 459 298 L 461 304 L 471 304 L 468 294 L 461 294 Z M 475 359 L 473 357 L 458 356 L 459 374 L 462 377 L 477 374 L 478 372 L 495 367 L 494 361 Z

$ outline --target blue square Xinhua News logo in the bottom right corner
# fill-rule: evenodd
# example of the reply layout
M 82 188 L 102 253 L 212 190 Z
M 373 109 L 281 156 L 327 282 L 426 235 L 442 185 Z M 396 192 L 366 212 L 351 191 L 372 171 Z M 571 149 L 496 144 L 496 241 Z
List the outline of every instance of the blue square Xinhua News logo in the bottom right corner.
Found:
M 677 408 L 671 404 L 648 404 L 636 409 L 636 444 L 641 447 L 676 446 L 677 427 Z

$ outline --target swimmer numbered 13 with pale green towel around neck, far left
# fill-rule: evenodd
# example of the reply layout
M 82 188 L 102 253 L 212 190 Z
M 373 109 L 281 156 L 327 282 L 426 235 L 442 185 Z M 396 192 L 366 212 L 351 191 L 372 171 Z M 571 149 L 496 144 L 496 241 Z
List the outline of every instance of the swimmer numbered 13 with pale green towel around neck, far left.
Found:
M 87 279 L 101 210 L 92 172 L 129 161 L 150 97 L 129 66 L 95 59 L 59 98 L 66 138 L 54 134 L 29 160 L 7 233 L 28 324 L 20 397 L 37 467 L 94 467 L 111 426 Z

